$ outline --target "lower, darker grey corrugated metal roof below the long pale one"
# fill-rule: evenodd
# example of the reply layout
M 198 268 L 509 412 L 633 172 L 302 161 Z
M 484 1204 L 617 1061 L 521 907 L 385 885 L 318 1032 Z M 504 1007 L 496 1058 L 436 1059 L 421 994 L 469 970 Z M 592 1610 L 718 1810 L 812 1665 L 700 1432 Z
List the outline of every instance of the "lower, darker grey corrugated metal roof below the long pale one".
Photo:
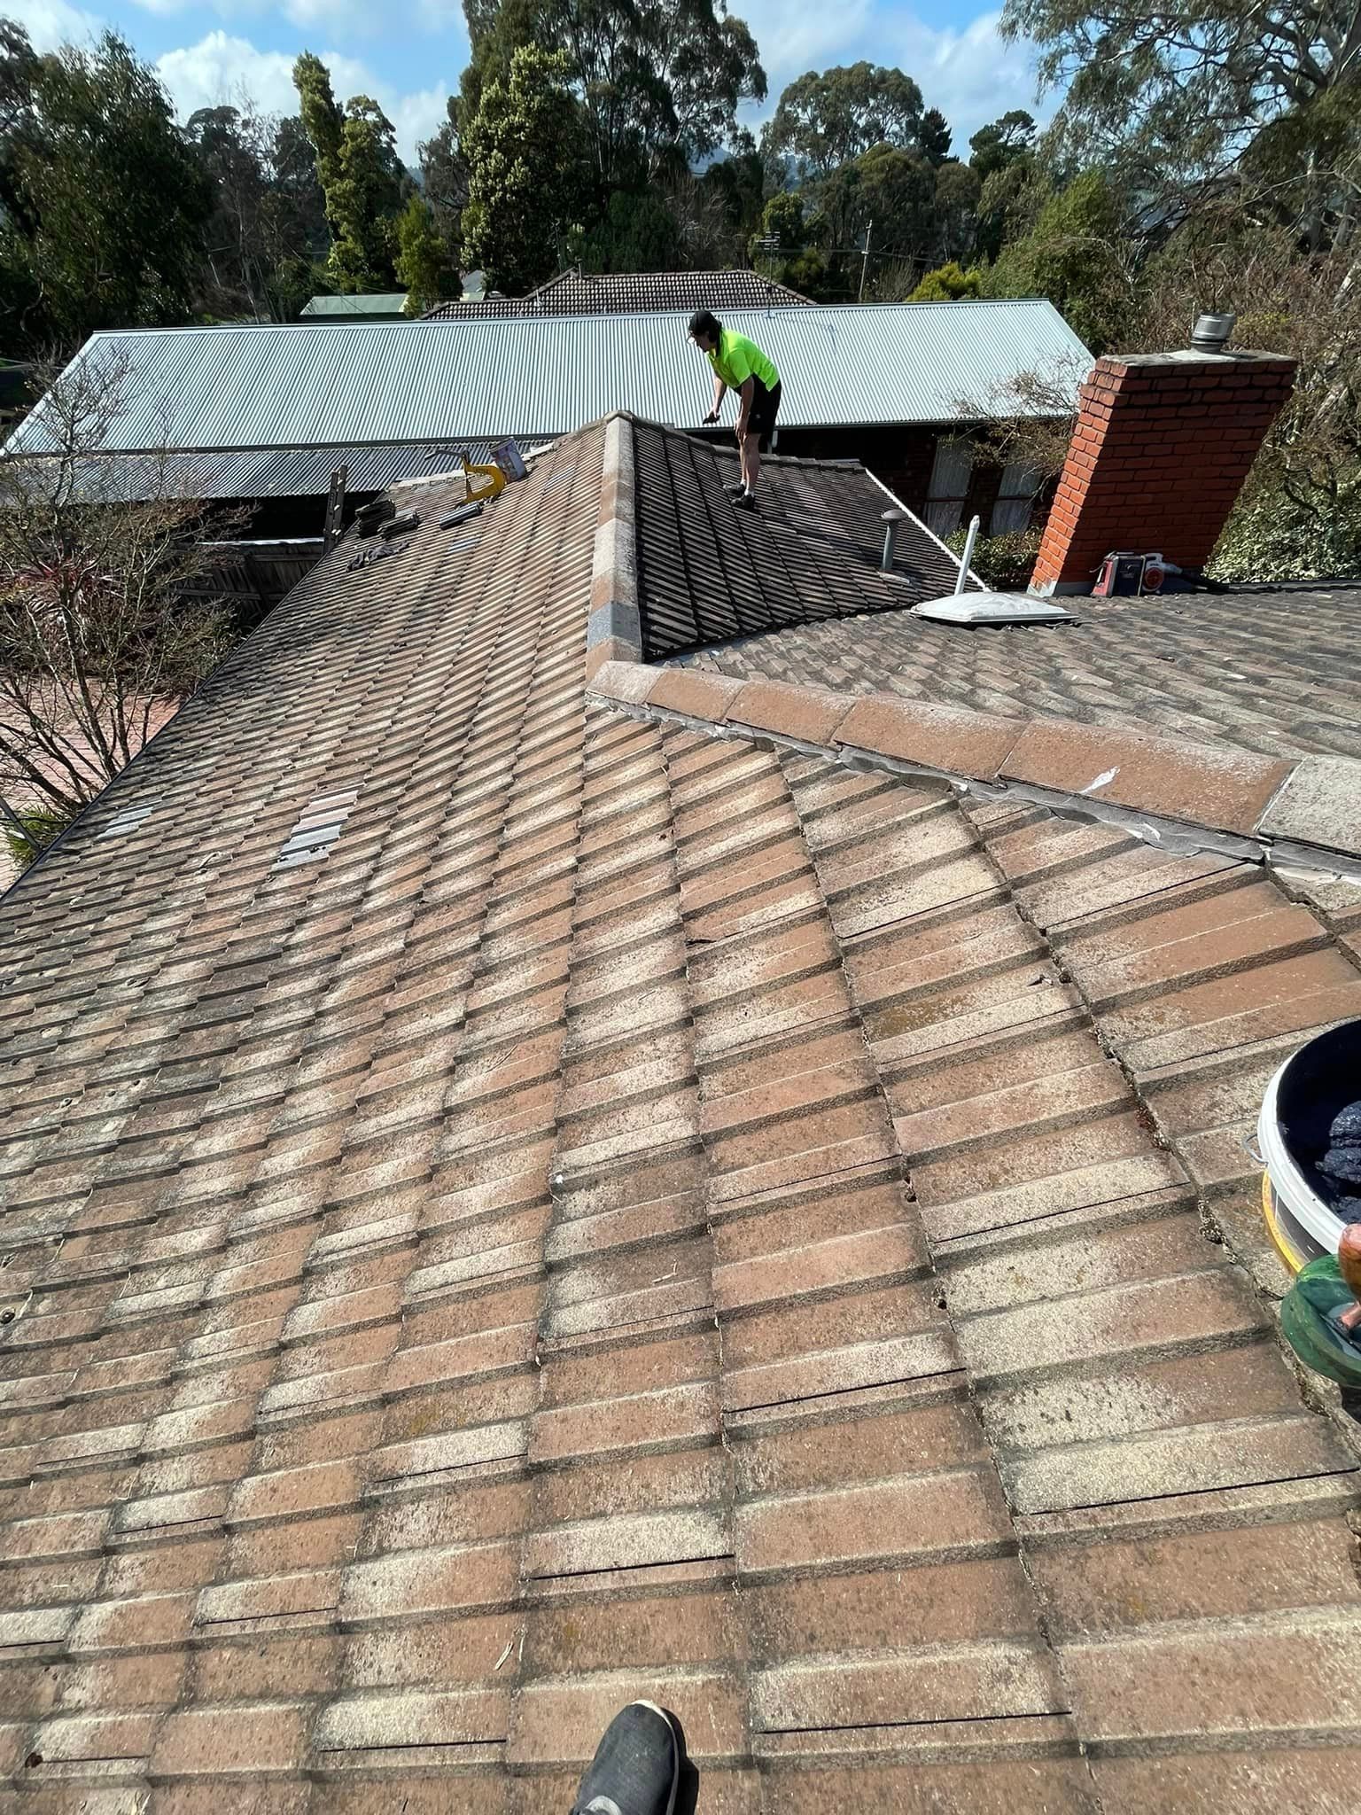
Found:
M 397 479 L 448 472 L 470 448 L 483 459 L 488 441 L 432 443 L 376 448 L 263 448 L 254 452 L 178 454 L 160 459 L 131 454 L 87 461 L 82 492 L 102 503 L 183 494 L 185 497 L 318 497 L 330 490 L 330 476 L 348 466 L 350 492 L 385 492 Z

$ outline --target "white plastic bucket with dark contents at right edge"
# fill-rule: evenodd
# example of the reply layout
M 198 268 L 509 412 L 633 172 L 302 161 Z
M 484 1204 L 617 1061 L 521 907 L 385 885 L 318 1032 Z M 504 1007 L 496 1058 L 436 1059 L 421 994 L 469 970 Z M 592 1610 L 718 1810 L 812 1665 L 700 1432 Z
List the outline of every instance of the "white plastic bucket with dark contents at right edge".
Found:
M 1319 1035 L 1276 1071 L 1258 1114 L 1261 1212 L 1290 1272 L 1336 1254 L 1346 1227 L 1308 1163 L 1327 1145 L 1327 1127 L 1343 1104 L 1361 1096 L 1361 1022 Z

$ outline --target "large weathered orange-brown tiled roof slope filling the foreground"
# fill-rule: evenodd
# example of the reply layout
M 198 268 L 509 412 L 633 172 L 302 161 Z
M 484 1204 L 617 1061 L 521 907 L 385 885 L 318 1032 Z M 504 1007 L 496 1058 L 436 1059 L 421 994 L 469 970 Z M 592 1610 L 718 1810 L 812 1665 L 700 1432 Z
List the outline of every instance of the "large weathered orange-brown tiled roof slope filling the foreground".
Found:
M 4 1770 L 526 1815 L 642 1693 L 742 1815 L 1330 1806 L 1241 1133 L 1356 889 L 659 681 L 635 452 L 347 537 L 0 904 Z

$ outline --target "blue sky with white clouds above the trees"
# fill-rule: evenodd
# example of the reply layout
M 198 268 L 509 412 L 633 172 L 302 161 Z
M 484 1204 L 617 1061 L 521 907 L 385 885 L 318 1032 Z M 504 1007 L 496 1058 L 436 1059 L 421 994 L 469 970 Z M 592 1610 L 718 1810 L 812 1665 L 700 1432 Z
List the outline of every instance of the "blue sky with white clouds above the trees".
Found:
M 913 76 L 927 107 L 940 107 L 967 158 L 969 134 L 1011 107 L 1034 105 L 1033 56 L 998 34 L 996 11 L 965 0 L 731 0 L 748 22 L 769 82 L 766 107 L 744 111 L 759 125 L 780 89 L 806 69 L 867 58 Z M 316 51 L 336 98 L 372 94 L 397 129 L 408 163 L 443 123 L 445 100 L 468 60 L 461 0 L 405 0 L 397 13 L 372 0 L 0 0 L 42 51 L 83 42 L 105 25 L 156 64 L 180 118 L 232 100 L 241 85 L 265 113 L 296 113 L 292 62 Z

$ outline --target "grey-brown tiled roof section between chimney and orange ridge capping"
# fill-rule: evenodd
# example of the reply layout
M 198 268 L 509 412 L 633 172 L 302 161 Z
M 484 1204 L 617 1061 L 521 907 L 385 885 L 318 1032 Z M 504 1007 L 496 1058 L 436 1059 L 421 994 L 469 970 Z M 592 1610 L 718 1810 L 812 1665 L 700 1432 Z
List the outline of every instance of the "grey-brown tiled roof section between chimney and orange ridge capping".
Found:
M 1268 755 L 1361 757 L 1359 586 L 1065 603 L 1076 624 L 962 637 L 898 615 L 860 624 L 855 639 L 833 624 L 748 637 L 699 662 L 1004 717 L 1223 739 Z

